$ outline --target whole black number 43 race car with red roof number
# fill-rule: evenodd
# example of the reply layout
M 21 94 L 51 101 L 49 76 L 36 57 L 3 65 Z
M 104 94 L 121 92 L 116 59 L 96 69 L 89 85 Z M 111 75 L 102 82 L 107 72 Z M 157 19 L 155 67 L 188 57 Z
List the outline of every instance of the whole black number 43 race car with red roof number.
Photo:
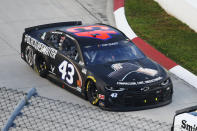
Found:
M 109 25 L 74 21 L 26 28 L 21 57 L 40 76 L 103 109 L 153 108 L 172 99 L 166 71 Z

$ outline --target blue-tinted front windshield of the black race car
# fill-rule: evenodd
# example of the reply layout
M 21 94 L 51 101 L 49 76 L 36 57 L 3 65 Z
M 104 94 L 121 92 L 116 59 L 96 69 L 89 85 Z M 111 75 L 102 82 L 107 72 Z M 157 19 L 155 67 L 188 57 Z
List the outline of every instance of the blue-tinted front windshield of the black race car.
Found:
M 87 65 L 104 64 L 145 57 L 145 55 L 132 42 L 127 40 L 84 46 L 83 56 Z

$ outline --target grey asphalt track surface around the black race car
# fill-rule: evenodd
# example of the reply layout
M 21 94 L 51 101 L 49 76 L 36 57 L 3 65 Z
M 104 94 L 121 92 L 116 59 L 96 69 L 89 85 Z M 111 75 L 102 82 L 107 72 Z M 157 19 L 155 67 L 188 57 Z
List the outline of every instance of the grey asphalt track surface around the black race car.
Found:
M 0 86 L 27 91 L 74 104 L 92 106 L 88 101 L 39 77 L 21 58 L 20 43 L 25 27 L 45 23 L 81 20 L 85 24 L 115 25 L 112 0 L 0 0 Z M 171 123 L 178 109 L 197 105 L 197 90 L 171 75 L 174 96 L 171 104 L 125 114 Z

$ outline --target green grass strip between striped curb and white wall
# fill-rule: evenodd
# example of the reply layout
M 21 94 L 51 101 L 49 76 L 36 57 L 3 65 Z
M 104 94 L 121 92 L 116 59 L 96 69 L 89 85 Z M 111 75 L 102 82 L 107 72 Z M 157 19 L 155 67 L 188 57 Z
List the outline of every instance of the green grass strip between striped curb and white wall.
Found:
M 197 75 L 197 33 L 153 0 L 126 0 L 125 11 L 139 37 Z

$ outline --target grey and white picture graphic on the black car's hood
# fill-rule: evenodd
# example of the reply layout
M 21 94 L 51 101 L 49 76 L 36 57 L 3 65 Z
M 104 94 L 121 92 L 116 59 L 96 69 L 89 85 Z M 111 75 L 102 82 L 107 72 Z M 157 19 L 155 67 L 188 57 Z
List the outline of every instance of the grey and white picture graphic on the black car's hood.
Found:
M 157 70 L 150 69 L 150 68 L 143 68 L 139 65 L 135 65 L 132 63 L 128 63 L 128 62 L 112 64 L 111 68 L 114 71 L 109 73 L 108 77 L 116 78 L 119 81 L 124 81 L 126 77 L 132 73 L 142 73 L 142 74 L 146 74 L 152 77 L 158 74 Z

